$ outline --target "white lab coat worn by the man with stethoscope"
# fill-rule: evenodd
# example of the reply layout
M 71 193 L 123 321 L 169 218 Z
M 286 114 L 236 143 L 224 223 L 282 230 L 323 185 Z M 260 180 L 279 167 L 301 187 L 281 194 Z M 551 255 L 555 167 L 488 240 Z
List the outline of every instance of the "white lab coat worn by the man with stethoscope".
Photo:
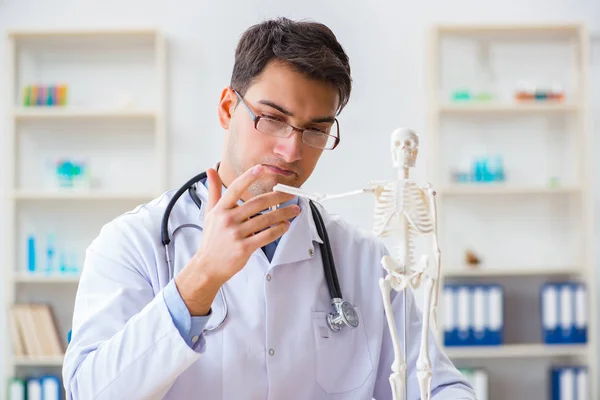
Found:
M 356 329 L 329 331 L 322 240 L 308 203 L 300 199 L 302 211 L 272 263 L 258 249 L 226 283 L 228 319 L 193 350 L 175 327 L 162 292 L 169 273 L 160 223 L 174 192 L 108 223 L 87 250 L 63 367 L 67 399 L 391 399 L 393 351 L 378 284 L 386 250 L 379 240 L 320 208 L 343 297 L 360 317 Z M 198 185 L 197 192 L 205 203 L 207 189 Z M 203 217 L 204 206 L 199 210 L 187 193 L 173 208 L 175 274 L 198 249 Z M 412 295 L 408 299 L 414 400 L 421 314 Z M 402 332 L 401 295 L 393 307 Z M 222 316 L 217 296 L 207 327 Z M 434 399 L 475 399 L 435 342 L 430 356 L 433 388 L 439 391 Z

